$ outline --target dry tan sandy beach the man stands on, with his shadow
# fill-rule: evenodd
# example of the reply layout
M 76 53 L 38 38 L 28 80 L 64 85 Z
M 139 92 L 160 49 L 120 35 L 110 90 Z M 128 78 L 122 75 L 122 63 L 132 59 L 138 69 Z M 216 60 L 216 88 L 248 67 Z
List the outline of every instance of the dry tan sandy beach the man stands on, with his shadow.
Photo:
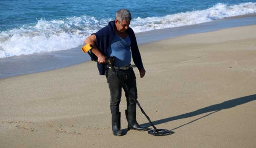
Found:
M 140 105 L 156 128 L 174 134 L 128 131 L 123 95 L 125 135 L 113 136 L 108 84 L 89 61 L 0 79 L 0 148 L 256 147 L 256 25 L 139 48 Z M 138 107 L 137 121 L 152 129 Z

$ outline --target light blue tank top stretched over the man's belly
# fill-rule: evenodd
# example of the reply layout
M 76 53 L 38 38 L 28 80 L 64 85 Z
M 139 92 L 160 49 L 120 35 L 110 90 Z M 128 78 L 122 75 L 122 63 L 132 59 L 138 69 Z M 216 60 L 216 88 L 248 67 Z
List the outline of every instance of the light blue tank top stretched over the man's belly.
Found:
M 115 66 L 122 67 L 131 64 L 131 40 L 129 35 L 125 39 L 116 33 L 111 45 L 107 49 L 107 57 L 115 56 Z

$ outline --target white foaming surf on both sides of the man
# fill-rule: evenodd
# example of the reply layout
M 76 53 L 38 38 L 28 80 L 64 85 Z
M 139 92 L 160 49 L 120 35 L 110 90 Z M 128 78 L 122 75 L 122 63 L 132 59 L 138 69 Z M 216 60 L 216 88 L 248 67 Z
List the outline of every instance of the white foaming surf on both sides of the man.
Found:
M 256 12 L 256 3 L 228 6 L 216 4 L 205 10 L 182 12 L 164 17 L 132 19 L 135 32 L 179 27 Z M 90 16 L 47 21 L 0 33 L 0 58 L 33 53 L 67 50 L 83 44 L 90 34 L 106 26 L 111 19 L 97 20 Z

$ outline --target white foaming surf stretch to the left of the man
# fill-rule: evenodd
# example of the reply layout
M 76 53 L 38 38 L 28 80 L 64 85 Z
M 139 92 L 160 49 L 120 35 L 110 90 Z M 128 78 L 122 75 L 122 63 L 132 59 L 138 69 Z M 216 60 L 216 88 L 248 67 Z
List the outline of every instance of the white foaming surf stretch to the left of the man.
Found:
M 86 36 L 108 23 L 94 17 L 67 18 L 66 20 L 38 20 L 34 26 L 4 31 L 0 34 L 0 58 L 33 53 L 67 50 L 83 44 Z

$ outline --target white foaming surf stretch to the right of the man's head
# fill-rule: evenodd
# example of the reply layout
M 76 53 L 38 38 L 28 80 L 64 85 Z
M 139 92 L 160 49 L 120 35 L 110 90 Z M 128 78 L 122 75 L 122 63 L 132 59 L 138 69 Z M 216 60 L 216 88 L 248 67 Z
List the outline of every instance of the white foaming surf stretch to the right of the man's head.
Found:
M 256 3 L 243 3 L 227 6 L 218 3 L 211 8 L 192 12 L 181 12 L 164 17 L 136 18 L 132 20 L 131 27 L 135 32 L 144 32 L 155 29 L 180 27 L 199 24 L 226 17 L 244 15 L 256 12 Z

